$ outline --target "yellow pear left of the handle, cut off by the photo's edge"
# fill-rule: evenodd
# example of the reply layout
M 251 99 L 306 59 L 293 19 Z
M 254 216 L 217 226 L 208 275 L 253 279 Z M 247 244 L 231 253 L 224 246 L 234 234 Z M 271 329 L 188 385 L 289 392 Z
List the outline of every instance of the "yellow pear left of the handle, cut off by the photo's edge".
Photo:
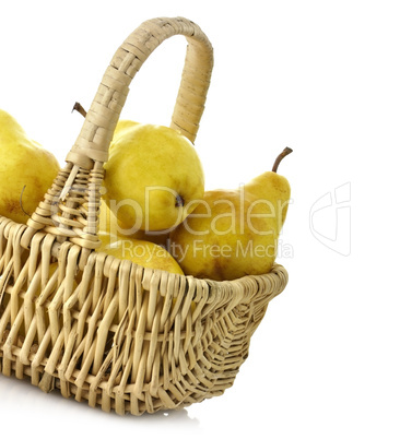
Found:
M 0 109 L 0 215 L 25 224 L 60 169 L 57 158 Z

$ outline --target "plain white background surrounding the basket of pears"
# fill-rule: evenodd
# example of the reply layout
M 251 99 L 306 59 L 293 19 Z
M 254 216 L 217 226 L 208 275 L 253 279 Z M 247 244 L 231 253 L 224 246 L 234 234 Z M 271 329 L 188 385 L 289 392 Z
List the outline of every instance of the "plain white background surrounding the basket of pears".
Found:
M 399 438 L 397 5 L 1 2 L 0 107 L 61 164 L 82 124 L 73 103 L 90 106 L 114 51 L 155 16 L 195 21 L 214 46 L 196 142 L 209 189 L 236 187 L 270 169 L 284 146 L 294 150 L 280 167 L 293 190 L 279 260 L 290 283 L 232 389 L 137 418 L 0 376 L 1 435 L 10 426 L 30 438 L 242 438 L 255 427 L 274 439 Z M 186 46 L 173 39 L 134 79 L 123 117 L 169 123 Z M 327 204 L 337 188 L 341 210 Z

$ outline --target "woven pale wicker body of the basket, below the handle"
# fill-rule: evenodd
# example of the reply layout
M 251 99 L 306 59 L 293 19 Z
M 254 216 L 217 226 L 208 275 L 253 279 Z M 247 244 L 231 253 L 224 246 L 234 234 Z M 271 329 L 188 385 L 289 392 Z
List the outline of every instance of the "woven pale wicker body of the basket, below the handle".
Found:
M 23 228 L 0 223 L 1 372 L 119 414 L 222 394 L 287 282 L 281 266 L 217 283 L 96 252 L 81 272 L 82 249 L 69 242 L 49 277 L 54 236 L 36 235 L 27 253 L 16 245 Z

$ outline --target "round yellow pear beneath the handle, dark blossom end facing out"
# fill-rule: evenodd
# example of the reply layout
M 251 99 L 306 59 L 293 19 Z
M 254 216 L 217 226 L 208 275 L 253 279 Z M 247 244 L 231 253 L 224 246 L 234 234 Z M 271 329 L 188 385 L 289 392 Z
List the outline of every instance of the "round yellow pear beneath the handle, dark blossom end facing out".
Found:
M 200 158 L 192 143 L 172 128 L 120 123 L 104 166 L 103 197 L 126 234 L 166 232 L 204 193 Z

